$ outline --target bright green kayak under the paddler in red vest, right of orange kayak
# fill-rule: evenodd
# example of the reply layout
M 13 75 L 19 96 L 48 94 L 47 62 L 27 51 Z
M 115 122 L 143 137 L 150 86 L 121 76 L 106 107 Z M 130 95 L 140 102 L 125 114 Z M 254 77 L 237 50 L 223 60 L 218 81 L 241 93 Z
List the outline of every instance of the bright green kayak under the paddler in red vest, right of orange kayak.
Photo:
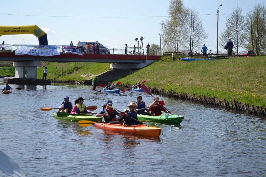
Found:
M 161 122 L 161 123 L 172 123 L 180 124 L 184 116 L 172 115 L 172 114 L 162 114 L 160 116 L 151 116 L 150 112 L 146 112 L 147 115 L 138 114 L 138 119 L 141 121 L 149 120 L 152 122 Z

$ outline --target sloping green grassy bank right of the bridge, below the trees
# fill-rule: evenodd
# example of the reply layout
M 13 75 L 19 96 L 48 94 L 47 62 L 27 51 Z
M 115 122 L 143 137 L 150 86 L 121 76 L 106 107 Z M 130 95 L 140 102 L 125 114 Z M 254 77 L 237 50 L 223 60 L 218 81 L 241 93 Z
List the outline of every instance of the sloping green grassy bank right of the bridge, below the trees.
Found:
M 266 107 L 265 74 L 265 56 L 191 62 L 172 62 L 171 56 L 164 56 L 119 81 L 134 84 L 146 80 L 148 87 Z

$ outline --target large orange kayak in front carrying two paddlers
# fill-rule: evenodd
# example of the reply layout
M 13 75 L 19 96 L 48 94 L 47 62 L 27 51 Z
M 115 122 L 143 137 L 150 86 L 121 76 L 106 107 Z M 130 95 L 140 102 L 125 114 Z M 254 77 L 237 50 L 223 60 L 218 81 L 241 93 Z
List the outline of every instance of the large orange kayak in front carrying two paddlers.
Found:
M 162 131 L 161 128 L 148 127 L 145 124 L 127 126 L 122 124 L 94 122 L 94 126 L 105 130 L 110 130 L 113 132 L 130 133 L 135 135 L 154 136 L 154 137 L 159 137 Z

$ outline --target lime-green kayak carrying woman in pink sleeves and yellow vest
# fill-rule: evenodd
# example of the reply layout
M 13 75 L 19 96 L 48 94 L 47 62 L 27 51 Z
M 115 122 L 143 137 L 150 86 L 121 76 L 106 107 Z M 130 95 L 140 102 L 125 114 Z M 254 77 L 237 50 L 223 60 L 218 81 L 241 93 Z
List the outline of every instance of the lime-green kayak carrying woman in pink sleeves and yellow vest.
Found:
M 81 115 L 69 115 L 66 117 L 58 117 L 56 115 L 57 112 L 53 112 L 53 116 L 58 118 L 58 119 L 64 119 L 64 120 L 70 120 L 70 121 L 81 121 L 81 120 L 86 120 L 86 121 L 102 121 L 102 117 L 95 117 L 92 114 L 81 114 Z

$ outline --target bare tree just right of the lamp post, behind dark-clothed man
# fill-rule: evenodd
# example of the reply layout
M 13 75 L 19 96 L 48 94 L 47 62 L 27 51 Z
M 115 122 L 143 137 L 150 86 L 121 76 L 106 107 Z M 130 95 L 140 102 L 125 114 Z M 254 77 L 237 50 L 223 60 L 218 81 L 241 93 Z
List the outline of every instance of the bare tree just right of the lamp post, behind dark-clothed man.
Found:
M 220 46 L 224 47 L 226 41 L 230 38 L 234 42 L 234 48 L 238 53 L 239 48 L 244 48 L 244 27 L 245 17 L 242 15 L 242 9 L 237 5 L 229 17 L 226 17 L 225 29 L 219 37 Z

